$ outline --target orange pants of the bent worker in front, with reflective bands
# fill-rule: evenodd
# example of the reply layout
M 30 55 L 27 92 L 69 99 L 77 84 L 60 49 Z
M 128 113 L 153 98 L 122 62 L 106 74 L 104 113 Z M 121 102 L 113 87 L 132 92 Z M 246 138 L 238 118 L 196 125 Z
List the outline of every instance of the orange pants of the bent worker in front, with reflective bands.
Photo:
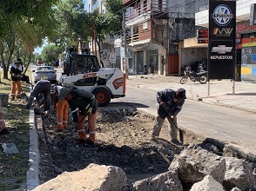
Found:
M 86 134 L 84 130 L 84 122 L 85 122 L 84 115 L 78 113 L 78 135 L 80 139 L 86 140 Z M 95 114 L 89 114 L 88 115 L 88 126 L 89 126 L 89 140 L 91 142 L 95 142 L 95 129 L 96 129 L 96 113 Z

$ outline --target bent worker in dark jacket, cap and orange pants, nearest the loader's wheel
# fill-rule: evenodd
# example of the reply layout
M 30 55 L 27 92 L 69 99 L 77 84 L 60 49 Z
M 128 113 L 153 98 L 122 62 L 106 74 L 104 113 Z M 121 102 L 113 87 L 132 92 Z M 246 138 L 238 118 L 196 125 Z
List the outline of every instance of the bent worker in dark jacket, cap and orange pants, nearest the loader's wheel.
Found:
M 98 109 L 98 101 L 95 96 L 84 89 L 73 87 L 64 87 L 60 89 L 58 96 L 59 100 L 66 100 L 71 107 L 73 121 L 78 130 L 80 142 L 89 144 L 95 143 L 95 128 L 96 128 L 96 112 Z M 77 110 L 78 109 L 78 110 Z M 77 112 L 76 112 L 77 110 Z M 89 138 L 86 139 L 84 131 L 85 116 L 88 115 Z

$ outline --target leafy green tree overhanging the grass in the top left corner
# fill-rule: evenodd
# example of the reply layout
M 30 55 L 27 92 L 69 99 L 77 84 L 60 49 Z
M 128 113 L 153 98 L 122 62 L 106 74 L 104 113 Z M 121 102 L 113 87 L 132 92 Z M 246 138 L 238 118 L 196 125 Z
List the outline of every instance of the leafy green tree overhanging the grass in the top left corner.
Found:
M 3 78 L 8 78 L 9 65 L 13 54 L 23 57 L 28 69 L 33 50 L 42 45 L 45 36 L 51 36 L 54 28 L 52 5 L 58 0 L 9 1 L 0 3 L 0 57 L 3 63 Z M 10 41 L 11 40 L 11 41 Z M 14 49 L 10 49 L 13 48 Z M 6 54 L 4 56 L 3 54 Z M 7 65 L 5 65 L 5 59 Z

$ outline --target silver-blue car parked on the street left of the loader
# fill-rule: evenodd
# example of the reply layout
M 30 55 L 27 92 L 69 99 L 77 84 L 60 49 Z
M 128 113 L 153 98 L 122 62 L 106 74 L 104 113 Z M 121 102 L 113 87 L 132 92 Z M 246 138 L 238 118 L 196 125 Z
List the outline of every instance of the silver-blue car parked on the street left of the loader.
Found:
M 53 66 L 38 66 L 37 70 L 32 70 L 34 74 L 34 82 L 37 83 L 39 80 L 49 80 L 51 83 L 57 83 L 57 74 Z

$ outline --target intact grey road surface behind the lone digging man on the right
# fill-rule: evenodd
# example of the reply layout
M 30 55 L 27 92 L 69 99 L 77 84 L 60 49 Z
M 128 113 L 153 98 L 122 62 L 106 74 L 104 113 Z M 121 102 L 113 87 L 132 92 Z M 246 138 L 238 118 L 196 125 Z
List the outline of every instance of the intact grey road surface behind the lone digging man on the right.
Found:
M 111 103 L 132 105 L 156 114 L 156 92 L 126 85 L 126 96 Z M 111 106 L 111 105 L 110 105 Z M 186 99 L 178 115 L 179 126 L 204 137 L 240 148 L 247 154 L 256 155 L 255 115 L 239 109 L 226 108 Z

